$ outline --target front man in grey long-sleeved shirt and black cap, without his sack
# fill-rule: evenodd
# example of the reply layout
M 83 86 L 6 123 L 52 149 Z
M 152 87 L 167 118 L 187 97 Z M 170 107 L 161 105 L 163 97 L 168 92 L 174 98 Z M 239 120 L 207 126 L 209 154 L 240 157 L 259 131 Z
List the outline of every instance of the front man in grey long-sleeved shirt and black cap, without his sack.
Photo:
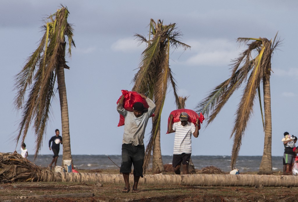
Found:
M 129 173 L 134 164 L 134 186 L 132 192 L 139 192 L 138 183 L 140 177 L 143 177 L 143 164 L 145 157 L 144 135 L 148 119 L 155 110 L 155 104 L 152 100 L 140 93 L 149 108 L 145 108 L 141 102 L 135 102 L 133 112 L 127 111 L 123 107 L 124 95 L 117 104 L 117 111 L 124 116 L 124 134 L 122 140 L 122 162 L 120 172 L 122 172 L 125 188 L 122 192 L 129 192 Z

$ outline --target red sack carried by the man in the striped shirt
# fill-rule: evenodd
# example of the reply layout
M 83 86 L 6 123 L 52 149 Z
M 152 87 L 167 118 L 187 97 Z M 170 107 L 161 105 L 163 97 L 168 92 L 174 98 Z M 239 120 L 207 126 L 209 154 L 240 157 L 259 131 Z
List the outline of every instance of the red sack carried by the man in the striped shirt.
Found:
M 179 122 L 180 121 L 180 114 L 182 112 L 186 112 L 188 114 L 188 122 L 191 122 L 193 124 L 195 124 L 195 122 L 197 121 L 197 118 L 199 119 L 199 126 L 198 128 L 201 129 L 201 124 L 203 123 L 203 121 L 205 120 L 204 116 L 202 113 L 200 113 L 200 116 L 193 110 L 188 110 L 188 109 L 179 109 L 179 110 L 174 110 L 172 111 L 170 114 L 173 115 L 173 123 Z M 168 118 L 168 127 L 170 124 L 170 117 Z M 169 132 L 167 131 L 167 134 Z

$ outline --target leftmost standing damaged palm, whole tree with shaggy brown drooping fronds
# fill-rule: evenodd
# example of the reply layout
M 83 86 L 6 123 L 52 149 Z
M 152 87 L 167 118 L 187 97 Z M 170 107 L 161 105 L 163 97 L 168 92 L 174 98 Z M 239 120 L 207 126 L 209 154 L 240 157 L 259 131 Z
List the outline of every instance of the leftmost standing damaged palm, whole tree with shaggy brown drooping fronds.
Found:
M 28 58 L 27 64 L 20 73 L 15 76 L 15 106 L 22 110 L 21 123 L 16 137 L 21 143 L 26 138 L 31 122 L 36 135 L 36 150 L 34 158 L 41 149 L 46 124 L 49 118 L 50 105 L 56 91 L 56 79 L 61 108 L 63 157 L 62 160 L 72 160 L 69 135 L 69 117 L 64 79 L 64 68 L 69 69 L 65 61 L 65 49 L 68 44 L 68 53 L 71 56 L 71 48 L 75 46 L 72 39 L 73 29 L 67 22 L 69 11 L 62 7 L 49 16 L 42 27 L 42 36 L 38 48 Z M 26 92 L 30 90 L 29 94 Z M 24 101 L 27 97 L 26 102 Z

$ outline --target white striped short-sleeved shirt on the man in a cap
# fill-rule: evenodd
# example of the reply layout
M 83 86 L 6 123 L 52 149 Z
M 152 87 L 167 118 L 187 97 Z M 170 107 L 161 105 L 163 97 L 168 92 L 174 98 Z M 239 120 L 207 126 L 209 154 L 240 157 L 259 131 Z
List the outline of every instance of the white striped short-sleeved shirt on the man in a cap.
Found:
M 195 132 L 195 124 L 187 121 L 185 126 L 181 122 L 173 124 L 175 132 L 174 152 L 173 154 L 191 153 L 191 136 Z

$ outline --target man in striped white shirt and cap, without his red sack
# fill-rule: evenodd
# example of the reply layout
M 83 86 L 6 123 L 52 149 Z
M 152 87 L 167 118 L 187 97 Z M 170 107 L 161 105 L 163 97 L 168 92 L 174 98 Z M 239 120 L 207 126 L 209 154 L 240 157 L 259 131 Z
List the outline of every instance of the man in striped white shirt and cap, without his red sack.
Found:
M 179 116 L 180 121 L 173 123 L 173 115 L 170 114 L 168 133 L 175 132 L 173 167 L 177 175 L 180 175 L 180 165 L 183 164 L 183 174 L 188 174 L 188 165 L 191 156 L 191 136 L 199 136 L 199 119 L 195 124 L 188 122 L 188 114 L 182 112 Z

